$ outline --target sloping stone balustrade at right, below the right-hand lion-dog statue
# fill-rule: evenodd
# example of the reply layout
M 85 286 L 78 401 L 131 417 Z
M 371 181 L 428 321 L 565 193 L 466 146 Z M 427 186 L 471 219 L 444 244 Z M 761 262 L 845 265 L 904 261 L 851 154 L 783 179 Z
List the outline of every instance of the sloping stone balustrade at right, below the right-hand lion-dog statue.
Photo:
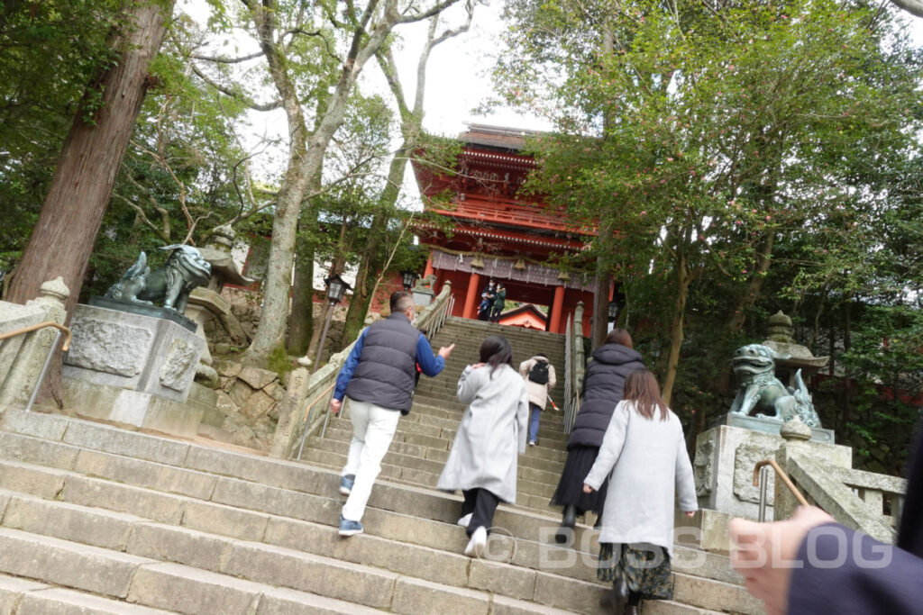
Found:
M 810 455 L 789 451 L 785 471 L 810 500 L 833 516 L 881 542 L 896 538 L 896 512 L 906 490 L 906 480 L 845 467 L 822 465 Z M 892 514 L 884 514 L 884 494 Z M 776 497 L 778 498 L 778 491 Z M 778 517 L 779 504 L 776 500 Z

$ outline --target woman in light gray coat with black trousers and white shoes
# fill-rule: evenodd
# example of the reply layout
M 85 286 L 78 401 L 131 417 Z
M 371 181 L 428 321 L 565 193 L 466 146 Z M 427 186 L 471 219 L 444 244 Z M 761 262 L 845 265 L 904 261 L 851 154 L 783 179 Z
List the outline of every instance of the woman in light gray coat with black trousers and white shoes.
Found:
M 437 484 L 444 491 L 462 490 L 459 525 L 471 537 L 464 553 L 477 557 L 497 503 L 516 503 L 516 455 L 525 452 L 529 416 L 529 394 L 512 367 L 509 341 L 487 337 L 480 356 L 459 378 L 458 398 L 468 408 Z

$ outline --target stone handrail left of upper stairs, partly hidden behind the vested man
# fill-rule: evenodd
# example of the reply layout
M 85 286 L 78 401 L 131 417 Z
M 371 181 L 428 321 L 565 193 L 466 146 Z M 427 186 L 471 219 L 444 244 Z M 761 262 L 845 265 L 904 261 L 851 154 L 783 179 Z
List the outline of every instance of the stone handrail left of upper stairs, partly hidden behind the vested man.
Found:
M 426 328 L 430 337 L 445 323 L 453 303 L 451 284 L 447 281 L 442 291 L 417 315 L 417 327 Z M 336 385 L 337 374 L 353 351 L 355 341 L 330 357 L 317 372 L 310 373 L 306 361 L 289 375 L 285 396 L 279 405 L 279 423 L 272 438 L 270 455 L 289 457 L 301 455 L 307 436 L 329 418 L 330 397 Z

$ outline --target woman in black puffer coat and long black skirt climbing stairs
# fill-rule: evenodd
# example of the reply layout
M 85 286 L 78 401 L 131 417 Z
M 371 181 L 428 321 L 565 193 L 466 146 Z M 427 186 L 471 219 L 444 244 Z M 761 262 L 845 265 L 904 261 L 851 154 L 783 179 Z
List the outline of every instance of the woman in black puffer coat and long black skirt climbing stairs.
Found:
M 643 368 L 641 354 L 633 348 L 631 336 L 625 329 L 612 329 L 603 345 L 593 351 L 593 361 L 586 366 L 583 375 L 581 408 L 570 432 L 568 459 L 551 498 L 551 503 L 564 506 L 561 526 L 555 535 L 557 542 L 569 540 L 578 514 L 586 511 L 593 511 L 597 516 L 603 514 L 608 479 L 593 493 L 583 492 L 583 479 L 596 461 L 605 428 L 622 400 L 625 378 Z

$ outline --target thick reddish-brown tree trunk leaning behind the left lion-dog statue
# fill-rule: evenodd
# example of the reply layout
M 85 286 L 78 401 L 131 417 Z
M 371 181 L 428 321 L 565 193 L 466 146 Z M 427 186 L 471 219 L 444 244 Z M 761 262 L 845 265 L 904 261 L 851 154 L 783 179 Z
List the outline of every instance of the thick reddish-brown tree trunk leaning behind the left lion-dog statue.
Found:
M 132 6 L 126 29 L 115 42 L 121 56 L 93 87 L 102 90 L 102 106 L 91 112 L 83 106 L 89 102 L 85 99 L 78 108 L 6 301 L 33 299 L 42 282 L 61 276 L 70 289 L 68 320 L 77 304 L 115 176 L 148 89 L 148 66 L 161 47 L 173 2 L 148 0 Z M 85 119 L 90 114 L 91 124 Z M 59 405 L 60 374 L 60 363 L 54 362 L 43 387 Z

